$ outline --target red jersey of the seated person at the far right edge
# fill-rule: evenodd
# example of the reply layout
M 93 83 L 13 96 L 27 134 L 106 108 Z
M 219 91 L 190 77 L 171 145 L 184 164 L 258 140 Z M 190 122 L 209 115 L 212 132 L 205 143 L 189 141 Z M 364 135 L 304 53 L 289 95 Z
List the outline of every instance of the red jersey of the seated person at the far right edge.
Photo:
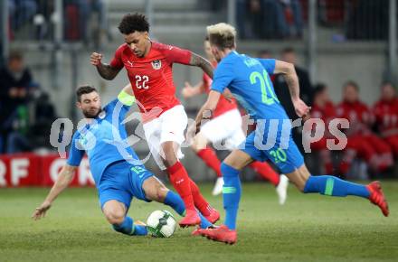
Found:
M 398 98 L 377 101 L 374 104 L 374 116 L 382 135 L 398 135 Z

